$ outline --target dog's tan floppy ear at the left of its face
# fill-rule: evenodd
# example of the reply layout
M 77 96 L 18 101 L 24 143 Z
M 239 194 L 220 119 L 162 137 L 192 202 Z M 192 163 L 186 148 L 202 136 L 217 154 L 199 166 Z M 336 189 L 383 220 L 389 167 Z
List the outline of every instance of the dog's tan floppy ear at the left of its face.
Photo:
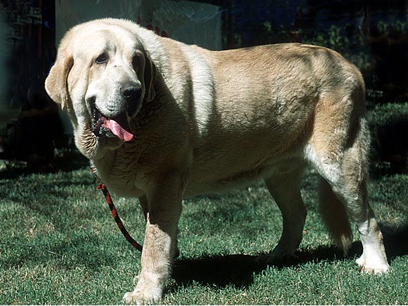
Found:
M 45 90 L 51 99 L 58 104 L 61 104 L 63 110 L 66 109 L 68 103 L 68 74 L 74 65 L 73 57 L 57 58 L 45 79 Z

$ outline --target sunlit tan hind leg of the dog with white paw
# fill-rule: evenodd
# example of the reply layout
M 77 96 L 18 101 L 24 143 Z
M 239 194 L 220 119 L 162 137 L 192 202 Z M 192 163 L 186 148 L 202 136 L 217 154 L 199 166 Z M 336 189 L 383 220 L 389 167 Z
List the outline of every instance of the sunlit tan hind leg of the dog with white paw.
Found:
M 358 99 L 358 96 L 364 99 L 360 95 L 355 98 Z M 325 104 L 321 105 L 325 108 L 324 112 L 316 112 L 312 138 L 305 149 L 306 159 L 327 181 L 336 198 L 345 205 L 351 220 L 357 225 L 363 244 L 363 255 L 356 261 L 360 270 L 374 274 L 387 272 L 389 265 L 383 235 L 369 206 L 367 195 L 369 130 L 364 118 L 363 103 L 347 97 L 336 103 L 327 102 L 329 101 L 323 101 Z M 323 185 L 325 192 L 327 187 Z M 333 195 L 329 194 L 329 197 L 335 200 Z M 343 234 L 349 236 L 344 212 L 337 202 L 334 207 L 337 208 L 333 213 L 341 212 L 340 218 L 343 221 L 336 219 L 336 216 L 325 216 L 326 222 L 341 221 L 340 223 L 346 226 Z M 329 211 L 325 214 L 329 214 Z M 329 228 L 331 226 L 337 227 L 331 224 Z M 337 234 L 337 238 L 340 237 L 341 240 L 341 232 Z

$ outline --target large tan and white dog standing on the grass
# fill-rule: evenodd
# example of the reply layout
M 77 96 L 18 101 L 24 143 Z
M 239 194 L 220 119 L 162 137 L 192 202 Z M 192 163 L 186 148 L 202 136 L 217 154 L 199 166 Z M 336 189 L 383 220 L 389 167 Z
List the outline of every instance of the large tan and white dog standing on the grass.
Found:
M 322 176 L 334 241 L 351 245 L 348 212 L 363 243 L 360 269 L 389 269 L 367 199 L 365 86 L 336 52 L 298 43 L 212 52 L 100 19 L 65 34 L 45 87 L 109 189 L 141 200 L 141 272 L 125 303 L 161 298 L 184 197 L 265 181 L 283 215 L 272 256 L 293 255 L 307 164 Z

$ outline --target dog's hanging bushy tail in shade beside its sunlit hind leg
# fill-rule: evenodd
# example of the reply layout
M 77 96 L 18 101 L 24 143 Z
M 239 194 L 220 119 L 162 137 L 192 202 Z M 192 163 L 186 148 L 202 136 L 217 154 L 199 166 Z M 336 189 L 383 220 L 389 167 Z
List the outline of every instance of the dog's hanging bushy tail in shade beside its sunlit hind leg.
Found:
M 347 210 L 323 178 L 319 186 L 319 204 L 320 213 L 334 243 L 343 249 L 344 254 L 347 254 L 353 242 Z

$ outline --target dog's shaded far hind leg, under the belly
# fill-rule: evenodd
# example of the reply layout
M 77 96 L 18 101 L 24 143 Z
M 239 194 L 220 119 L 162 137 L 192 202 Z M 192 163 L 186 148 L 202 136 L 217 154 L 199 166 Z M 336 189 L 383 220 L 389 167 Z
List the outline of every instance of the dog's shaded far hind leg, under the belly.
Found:
M 267 188 L 276 201 L 283 218 L 283 231 L 278 245 L 272 251 L 272 258 L 294 257 L 303 236 L 306 207 L 300 196 L 300 179 L 304 165 L 284 174 L 274 174 L 265 180 Z

